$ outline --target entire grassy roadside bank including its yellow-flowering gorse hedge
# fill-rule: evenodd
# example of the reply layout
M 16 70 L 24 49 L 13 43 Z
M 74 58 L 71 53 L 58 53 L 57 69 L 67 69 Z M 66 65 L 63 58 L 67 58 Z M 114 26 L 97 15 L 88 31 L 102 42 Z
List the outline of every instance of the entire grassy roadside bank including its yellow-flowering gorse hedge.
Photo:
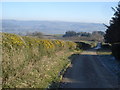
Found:
M 70 41 L 1 34 L 3 88 L 47 88 L 76 48 Z

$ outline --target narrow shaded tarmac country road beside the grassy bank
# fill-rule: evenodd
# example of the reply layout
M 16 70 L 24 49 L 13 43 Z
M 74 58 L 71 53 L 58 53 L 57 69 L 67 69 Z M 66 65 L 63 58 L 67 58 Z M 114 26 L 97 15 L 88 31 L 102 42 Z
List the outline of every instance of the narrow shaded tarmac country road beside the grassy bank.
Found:
M 118 77 L 100 62 L 95 50 L 77 55 L 60 84 L 61 88 L 118 88 Z

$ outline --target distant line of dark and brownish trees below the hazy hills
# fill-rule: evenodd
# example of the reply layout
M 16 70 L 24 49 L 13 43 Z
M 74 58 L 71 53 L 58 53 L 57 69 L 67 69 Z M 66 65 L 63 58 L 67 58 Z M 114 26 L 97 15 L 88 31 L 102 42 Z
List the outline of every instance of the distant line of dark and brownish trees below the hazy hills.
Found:
M 93 31 L 92 33 L 67 31 L 63 38 L 103 42 L 104 34 L 103 31 Z

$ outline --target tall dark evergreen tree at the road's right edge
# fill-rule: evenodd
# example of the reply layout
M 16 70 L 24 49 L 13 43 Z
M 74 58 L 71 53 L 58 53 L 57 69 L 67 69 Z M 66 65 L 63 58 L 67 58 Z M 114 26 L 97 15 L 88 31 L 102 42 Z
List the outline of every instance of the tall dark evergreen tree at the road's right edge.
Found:
M 120 2 L 114 10 L 114 16 L 110 20 L 105 33 L 105 42 L 111 44 L 112 55 L 120 61 Z

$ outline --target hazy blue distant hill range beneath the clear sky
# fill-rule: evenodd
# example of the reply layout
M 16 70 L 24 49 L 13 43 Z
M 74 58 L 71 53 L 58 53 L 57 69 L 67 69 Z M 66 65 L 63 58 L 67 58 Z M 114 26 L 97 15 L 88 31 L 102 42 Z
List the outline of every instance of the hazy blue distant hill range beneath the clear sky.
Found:
M 105 31 L 105 27 L 100 23 L 2 20 L 2 31 L 9 33 L 25 34 L 38 31 L 44 34 L 64 34 L 69 30 L 76 32 Z

